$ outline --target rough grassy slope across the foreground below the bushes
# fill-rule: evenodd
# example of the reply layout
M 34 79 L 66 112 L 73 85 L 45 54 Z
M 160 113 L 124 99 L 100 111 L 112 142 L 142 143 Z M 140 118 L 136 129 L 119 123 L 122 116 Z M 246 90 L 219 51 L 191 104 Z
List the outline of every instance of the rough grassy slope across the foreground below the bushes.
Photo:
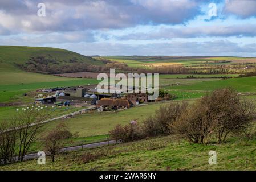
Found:
M 255 170 L 255 139 L 230 138 L 225 144 L 189 144 L 172 137 L 141 140 L 116 146 L 59 155 L 52 163 L 37 160 L 1 166 L 0 170 Z M 209 151 L 217 164 L 209 165 Z M 95 159 L 85 162 L 86 154 Z

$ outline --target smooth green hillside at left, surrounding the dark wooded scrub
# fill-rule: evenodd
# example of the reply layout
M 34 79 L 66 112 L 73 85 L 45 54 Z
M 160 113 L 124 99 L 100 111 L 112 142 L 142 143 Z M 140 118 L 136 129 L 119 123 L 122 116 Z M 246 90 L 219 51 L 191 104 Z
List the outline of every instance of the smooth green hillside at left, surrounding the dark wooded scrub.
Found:
M 30 57 L 51 55 L 61 65 L 76 57 L 86 64 L 103 65 L 99 60 L 58 48 L 0 46 L 0 102 L 19 102 L 23 93 L 39 88 L 76 86 L 97 83 L 94 79 L 76 79 L 22 71 L 16 64 L 25 64 Z M 72 67 L 72 63 L 68 63 Z M 22 101 L 26 98 L 22 98 Z

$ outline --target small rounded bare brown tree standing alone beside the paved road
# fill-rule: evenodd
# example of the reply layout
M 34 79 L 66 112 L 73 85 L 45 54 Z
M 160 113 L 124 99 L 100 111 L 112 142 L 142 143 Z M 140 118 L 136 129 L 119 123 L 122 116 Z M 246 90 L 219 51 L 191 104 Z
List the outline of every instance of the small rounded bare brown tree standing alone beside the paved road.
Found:
M 65 139 L 71 136 L 72 134 L 68 131 L 68 127 L 64 123 L 60 123 L 43 138 L 44 148 L 48 155 L 51 156 L 52 162 L 54 162 L 55 156 L 60 152 L 60 149 L 64 147 Z

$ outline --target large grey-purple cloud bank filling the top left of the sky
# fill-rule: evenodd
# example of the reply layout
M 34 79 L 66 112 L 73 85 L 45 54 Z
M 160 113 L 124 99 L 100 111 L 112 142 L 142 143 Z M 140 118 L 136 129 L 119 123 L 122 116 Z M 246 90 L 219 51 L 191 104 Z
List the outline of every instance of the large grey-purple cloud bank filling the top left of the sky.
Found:
M 17 31 L 83 31 L 125 28 L 137 24 L 179 24 L 200 13 L 195 0 L 45 0 L 46 17 L 39 17 L 39 2 L 17 0 L 11 3 L 2 0 L 0 24 L 13 34 Z M 7 22 L 13 24 L 10 26 Z

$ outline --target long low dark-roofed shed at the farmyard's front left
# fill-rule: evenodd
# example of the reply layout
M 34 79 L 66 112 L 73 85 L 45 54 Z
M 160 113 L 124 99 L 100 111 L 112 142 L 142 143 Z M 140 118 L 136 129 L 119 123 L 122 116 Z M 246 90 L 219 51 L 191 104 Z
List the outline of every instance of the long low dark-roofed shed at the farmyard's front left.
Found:
M 69 101 L 70 104 L 96 104 L 96 98 L 60 96 L 56 99 L 56 102 L 66 102 L 66 101 Z

